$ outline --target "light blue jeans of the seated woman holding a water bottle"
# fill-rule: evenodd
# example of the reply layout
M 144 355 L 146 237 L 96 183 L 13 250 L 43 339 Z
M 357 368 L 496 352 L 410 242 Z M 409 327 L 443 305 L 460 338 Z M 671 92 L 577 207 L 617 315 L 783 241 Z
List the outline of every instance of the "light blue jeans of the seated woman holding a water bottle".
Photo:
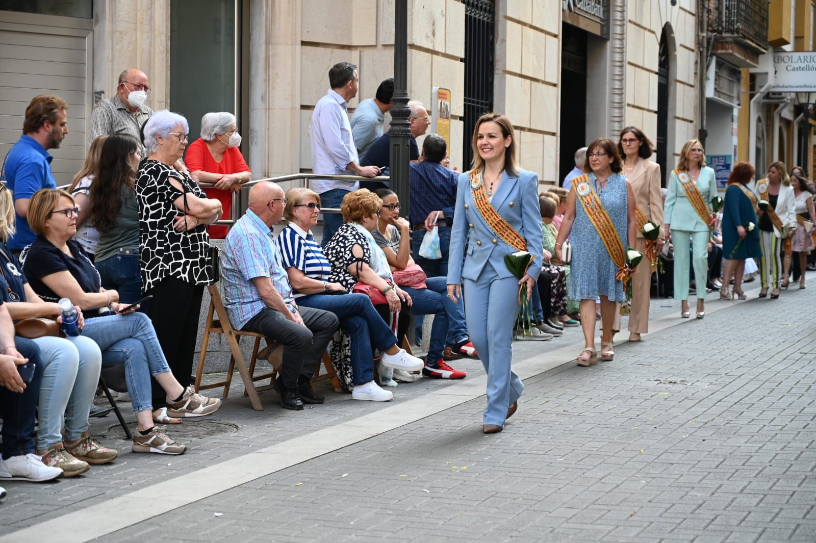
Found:
M 44 336 L 33 342 L 40 347 L 42 358 L 37 448 L 45 450 L 60 443 L 63 437 L 76 441 L 88 430 L 88 413 L 100 380 L 102 353 L 94 340 L 82 335 Z

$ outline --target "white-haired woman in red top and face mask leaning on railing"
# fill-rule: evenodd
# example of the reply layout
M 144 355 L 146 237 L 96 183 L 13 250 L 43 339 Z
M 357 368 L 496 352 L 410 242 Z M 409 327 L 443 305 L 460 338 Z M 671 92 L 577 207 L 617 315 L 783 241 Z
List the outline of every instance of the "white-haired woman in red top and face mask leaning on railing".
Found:
M 184 154 L 184 163 L 207 197 L 217 198 L 228 217 L 233 205 L 233 192 L 241 191 L 242 183 L 252 179 L 252 171 L 239 149 L 241 135 L 235 116 L 226 111 L 206 113 L 202 117 L 202 137 L 196 139 Z M 222 240 L 228 227 L 211 226 L 210 237 Z

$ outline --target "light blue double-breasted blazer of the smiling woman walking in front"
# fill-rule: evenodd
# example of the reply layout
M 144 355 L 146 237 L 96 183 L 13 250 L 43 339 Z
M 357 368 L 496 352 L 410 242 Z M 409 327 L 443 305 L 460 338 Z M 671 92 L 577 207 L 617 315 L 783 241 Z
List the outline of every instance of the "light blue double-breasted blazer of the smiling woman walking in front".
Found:
M 519 170 L 516 177 L 505 170 L 491 203 L 504 220 L 526 239 L 527 251 L 535 255 L 528 273 L 538 280 L 543 254 L 539 176 Z M 504 264 L 504 255 L 515 252 L 516 249 L 504 243 L 481 219 L 473 203 L 468 173 L 459 175 L 454 226 L 450 231 L 448 284 L 460 285 L 462 279 L 477 280 L 487 263 L 499 278 L 512 277 Z

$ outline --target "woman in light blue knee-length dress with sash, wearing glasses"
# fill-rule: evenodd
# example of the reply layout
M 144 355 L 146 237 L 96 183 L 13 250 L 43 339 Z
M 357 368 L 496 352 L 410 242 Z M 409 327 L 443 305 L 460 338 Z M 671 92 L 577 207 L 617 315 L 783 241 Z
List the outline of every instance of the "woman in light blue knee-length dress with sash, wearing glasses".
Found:
M 582 366 L 596 363 L 596 298 L 601 298 L 601 360 L 612 360 L 615 302 L 625 302 L 626 295 L 623 293 L 623 282 L 615 278 L 619 267 L 612 261 L 600 234 L 583 210 L 578 195 L 591 194 L 592 191 L 597 194 L 624 250 L 629 247 L 628 241 L 636 237 L 635 195 L 632 183 L 621 174 L 623 162 L 617 143 L 599 138 L 590 143 L 587 149 L 584 169 L 590 173 L 573 179 L 555 245 L 558 260 L 561 260 L 561 245 L 567 237 L 573 247 L 568 294 L 570 298 L 581 301 L 581 326 L 586 347 L 575 360 Z

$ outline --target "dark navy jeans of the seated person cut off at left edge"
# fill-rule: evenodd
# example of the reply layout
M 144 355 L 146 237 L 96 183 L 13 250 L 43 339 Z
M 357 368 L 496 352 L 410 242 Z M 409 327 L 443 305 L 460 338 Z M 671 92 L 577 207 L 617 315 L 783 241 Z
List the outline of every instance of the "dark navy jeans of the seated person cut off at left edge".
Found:
M 16 337 L 14 346 L 20 351 L 20 355 L 29 359 L 29 364 L 34 364 L 34 377 L 21 394 L 0 386 L 0 451 L 3 460 L 34 452 L 34 417 L 37 415 L 42 380 L 42 359 L 37 343 L 31 339 Z

